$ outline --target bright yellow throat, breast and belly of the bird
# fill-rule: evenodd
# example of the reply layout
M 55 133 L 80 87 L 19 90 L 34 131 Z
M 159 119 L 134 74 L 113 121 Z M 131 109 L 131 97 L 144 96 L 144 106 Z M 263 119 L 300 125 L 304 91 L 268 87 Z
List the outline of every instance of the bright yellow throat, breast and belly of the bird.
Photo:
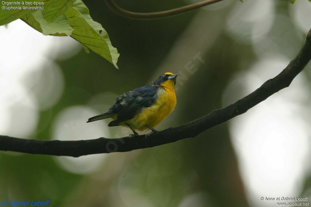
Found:
M 148 108 L 143 108 L 136 116 L 130 120 L 134 129 L 139 131 L 147 130 L 145 125 L 156 127 L 175 108 L 177 100 L 175 95 L 174 81 L 168 80 L 161 84 L 157 91 L 158 99 Z

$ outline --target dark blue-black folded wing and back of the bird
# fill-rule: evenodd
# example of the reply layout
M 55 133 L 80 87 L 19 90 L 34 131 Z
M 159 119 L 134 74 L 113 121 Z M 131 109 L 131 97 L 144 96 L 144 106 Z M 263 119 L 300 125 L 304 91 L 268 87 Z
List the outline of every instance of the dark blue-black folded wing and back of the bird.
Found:
M 133 118 L 141 108 L 150 107 L 156 101 L 159 87 L 161 86 L 143 86 L 120 95 L 116 103 L 109 108 L 109 111 L 117 113 L 118 117 L 108 126 L 118 126 L 119 123 Z

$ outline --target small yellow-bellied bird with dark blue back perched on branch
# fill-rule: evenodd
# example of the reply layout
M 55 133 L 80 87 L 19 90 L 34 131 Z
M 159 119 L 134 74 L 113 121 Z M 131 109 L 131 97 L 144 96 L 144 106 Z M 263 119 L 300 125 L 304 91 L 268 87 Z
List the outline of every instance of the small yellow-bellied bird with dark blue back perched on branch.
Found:
M 117 97 L 115 104 L 106 113 L 91 117 L 87 122 L 112 118 L 108 126 L 129 127 L 135 131 L 151 130 L 150 136 L 157 132 L 155 127 L 162 122 L 177 104 L 175 85 L 177 74 L 166 72 L 149 85 L 128 91 Z

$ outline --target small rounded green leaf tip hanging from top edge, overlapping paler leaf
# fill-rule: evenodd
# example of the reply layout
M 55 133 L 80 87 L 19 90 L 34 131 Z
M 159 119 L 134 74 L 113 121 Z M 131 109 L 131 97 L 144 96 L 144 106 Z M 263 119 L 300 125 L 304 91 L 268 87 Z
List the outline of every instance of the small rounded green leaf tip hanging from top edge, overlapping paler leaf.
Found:
M 73 4 L 73 0 L 53 0 L 44 6 L 43 18 L 48 22 L 55 21 L 58 16 L 64 15 Z

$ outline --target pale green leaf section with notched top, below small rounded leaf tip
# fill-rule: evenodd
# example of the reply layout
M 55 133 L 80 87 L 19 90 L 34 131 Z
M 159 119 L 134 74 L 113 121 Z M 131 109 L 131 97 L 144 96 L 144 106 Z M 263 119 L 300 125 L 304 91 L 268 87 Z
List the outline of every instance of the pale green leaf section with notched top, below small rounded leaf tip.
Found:
M 72 33 L 72 28 L 65 15 L 59 16 L 51 23 L 44 20 L 42 11 L 35 11 L 21 19 L 44 35 L 70 36 Z

